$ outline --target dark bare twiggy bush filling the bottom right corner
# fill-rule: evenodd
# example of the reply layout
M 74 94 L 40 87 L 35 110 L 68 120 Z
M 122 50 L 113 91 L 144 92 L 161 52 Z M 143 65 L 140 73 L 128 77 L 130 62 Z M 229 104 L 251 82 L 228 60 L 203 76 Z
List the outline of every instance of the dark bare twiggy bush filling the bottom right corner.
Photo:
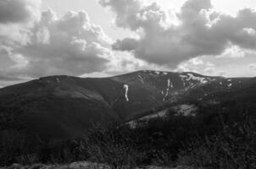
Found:
M 248 117 L 241 123 L 223 124 L 219 134 L 195 139 L 179 154 L 179 162 L 188 166 L 216 169 L 256 168 L 256 133 Z

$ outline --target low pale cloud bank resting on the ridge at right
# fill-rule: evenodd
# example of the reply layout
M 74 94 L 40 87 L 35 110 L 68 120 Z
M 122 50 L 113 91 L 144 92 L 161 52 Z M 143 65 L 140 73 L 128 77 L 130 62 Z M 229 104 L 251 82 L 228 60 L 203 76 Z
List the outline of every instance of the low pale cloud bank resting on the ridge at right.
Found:
M 230 51 L 230 50 L 228 50 Z M 175 68 L 179 72 L 195 72 L 198 74 L 225 77 L 254 77 L 255 53 L 244 51 L 242 57 L 231 57 L 232 52 L 222 55 L 193 57 Z

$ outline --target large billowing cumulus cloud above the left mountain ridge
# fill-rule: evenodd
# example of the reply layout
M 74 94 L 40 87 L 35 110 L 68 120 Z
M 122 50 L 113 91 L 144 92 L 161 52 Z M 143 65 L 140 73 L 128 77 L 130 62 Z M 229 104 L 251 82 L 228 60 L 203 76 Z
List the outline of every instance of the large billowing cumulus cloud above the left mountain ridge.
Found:
M 69 12 L 58 19 L 48 10 L 32 31 L 31 43 L 13 51 L 28 61 L 21 70 L 26 74 L 80 75 L 101 71 L 109 62 L 109 39 L 84 11 Z

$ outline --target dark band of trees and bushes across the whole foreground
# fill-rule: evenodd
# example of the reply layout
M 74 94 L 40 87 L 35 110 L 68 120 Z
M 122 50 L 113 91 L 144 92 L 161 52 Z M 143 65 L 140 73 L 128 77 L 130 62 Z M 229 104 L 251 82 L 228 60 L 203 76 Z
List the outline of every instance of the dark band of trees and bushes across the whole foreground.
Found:
M 70 140 L 37 138 L 31 142 L 24 134 L 14 132 L 1 140 L 0 164 L 93 161 L 113 168 L 256 168 L 256 118 L 250 106 L 230 103 L 200 107 L 196 117 L 169 114 L 135 129 L 120 124 L 109 128 L 95 124 L 90 134 Z

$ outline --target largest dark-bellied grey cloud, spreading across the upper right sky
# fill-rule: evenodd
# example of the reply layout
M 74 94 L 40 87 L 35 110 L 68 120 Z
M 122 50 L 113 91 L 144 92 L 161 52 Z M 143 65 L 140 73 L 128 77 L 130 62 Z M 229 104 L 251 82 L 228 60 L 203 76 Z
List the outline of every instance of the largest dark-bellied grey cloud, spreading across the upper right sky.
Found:
M 114 12 L 117 26 L 139 35 L 137 39 L 116 41 L 113 49 L 130 51 L 148 63 L 176 68 L 193 57 L 218 56 L 234 46 L 256 50 L 253 9 L 242 9 L 237 16 L 231 16 L 215 11 L 210 0 L 188 0 L 171 17 L 157 3 L 144 4 L 139 0 L 100 0 L 100 3 Z

